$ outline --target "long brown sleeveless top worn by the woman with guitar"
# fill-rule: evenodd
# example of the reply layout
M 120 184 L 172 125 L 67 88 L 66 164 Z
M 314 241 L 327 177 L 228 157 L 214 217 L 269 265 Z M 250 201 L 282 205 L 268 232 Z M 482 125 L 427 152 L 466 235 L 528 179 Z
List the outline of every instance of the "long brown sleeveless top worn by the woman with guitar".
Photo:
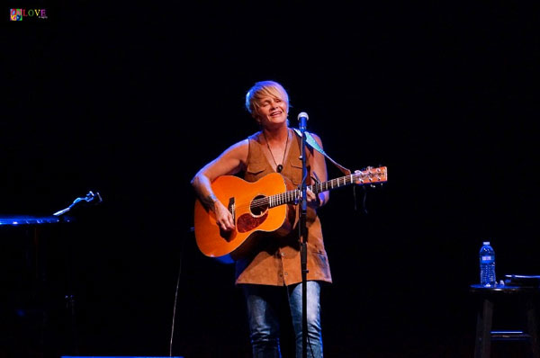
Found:
M 289 178 L 296 187 L 302 183 L 302 140 L 289 130 L 293 136 L 289 153 L 283 163 L 281 175 Z M 265 175 L 274 173 L 274 168 L 268 161 L 264 148 L 262 132 L 250 136 L 247 155 L 247 166 L 244 179 L 256 182 Z M 306 150 L 306 165 L 308 178 L 311 178 L 312 149 Z M 310 180 L 310 179 L 308 179 Z M 309 182 L 308 182 L 309 183 Z M 251 283 L 273 286 L 290 285 L 302 282 L 300 237 L 298 234 L 300 205 L 297 206 L 296 220 L 293 229 L 285 236 L 266 233 L 257 237 L 257 248 L 247 257 L 236 262 L 236 284 Z M 308 228 L 308 281 L 332 282 L 329 259 L 324 248 L 320 219 L 316 210 L 308 207 L 306 213 Z

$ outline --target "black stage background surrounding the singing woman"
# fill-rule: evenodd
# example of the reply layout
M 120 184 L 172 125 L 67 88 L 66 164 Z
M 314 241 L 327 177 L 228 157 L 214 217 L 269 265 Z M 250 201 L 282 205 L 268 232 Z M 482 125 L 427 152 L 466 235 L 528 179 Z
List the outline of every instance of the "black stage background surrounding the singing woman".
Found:
M 11 7 L 48 19 L 9 22 Z M 308 112 L 340 164 L 388 166 L 367 214 L 350 187 L 320 210 L 329 357 L 473 356 L 482 241 L 500 279 L 540 273 L 540 52 L 525 2 L 2 11 L 0 214 L 103 196 L 69 224 L 0 227 L 2 357 L 168 355 L 174 308 L 173 355 L 249 356 L 233 267 L 195 246 L 189 181 L 257 130 L 243 100 L 259 80 L 285 86 L 292 124 Z

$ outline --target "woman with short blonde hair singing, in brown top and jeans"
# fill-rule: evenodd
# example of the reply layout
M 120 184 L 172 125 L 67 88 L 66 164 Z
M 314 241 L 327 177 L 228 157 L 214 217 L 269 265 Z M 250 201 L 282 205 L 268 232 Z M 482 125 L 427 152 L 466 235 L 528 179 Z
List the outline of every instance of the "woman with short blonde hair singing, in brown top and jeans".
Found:
M 289 96 L 274 81 L 257 82 L 246 95 L 247 112 L 260 131 L 228 149 L 193 177 L 195 192 L 207 210 L 215 213 L 221 230 L 235 229 L 229 210 L 216 199 L 211 183 L 220 175 L 242 173 L 247 182 L 256 182 L 270 173 L 280 173 L 293 184 L 302 182 L 302 139 L 288 126 Z M 320 147 L 320 138 L 311 133 Z M 306 150 L 308 180 L 327 180 L 325 158 L 316 150 Z M 331 282 L 329 262 L 322 240 L 316 209 L 329 201 L 329 192 L 307 191 L 308 275 L 307 318 L 308 356 L 322 357 L 320 329 L 320 282 Z M 298 210 L 297 210 L 298 211 Z M 295 224 L 298 224 L 298 213 Z M 254 357 L 279 357 L 279 302 L 284 294 L 289 302 L 296 339 L 297 357 L 302 356 L 302 273 L 298 230 L 278 236 L 269 233 L 247 257 L 236 263 L 236 284 L 243 288 Z

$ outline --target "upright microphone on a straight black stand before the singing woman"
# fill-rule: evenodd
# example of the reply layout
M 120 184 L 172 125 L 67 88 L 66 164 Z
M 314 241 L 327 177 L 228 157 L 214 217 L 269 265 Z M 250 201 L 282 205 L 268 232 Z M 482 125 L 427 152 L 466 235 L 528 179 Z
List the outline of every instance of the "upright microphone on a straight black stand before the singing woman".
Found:
M 308 356 L 308 291 L 307 291 L 307 275 L 308 275 L 308 228 L 306 227 L 306 213 L 308 208 L 307 198 L 307 177 L 308 168 L 306 166 L 306 121 L 308 116 L 302 112 L 299 114 L 300 131 L 302 133 L 302 204 L 300 211 L 300 253 L 301 253 L 301 269 L 302 269 L 302 358 Z

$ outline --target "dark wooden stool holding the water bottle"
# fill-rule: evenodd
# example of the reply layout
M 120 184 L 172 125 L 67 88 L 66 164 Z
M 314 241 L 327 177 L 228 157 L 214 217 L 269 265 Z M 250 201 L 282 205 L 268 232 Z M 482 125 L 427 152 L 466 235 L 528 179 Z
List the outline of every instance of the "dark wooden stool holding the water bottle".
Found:
M 470 291 L 477 295 L 482 302 L 478 309 L 476 321 L 476 342 L 474 358 L 489 358 L 491 356 L 491 340 L 513 341 L 527 340 L 531 344 L 531 351 L 535 358 L 540 358 L 538 341 L 537 317 L 535 299 L 540 293 L 540 287 L 521 287 L 495 285 L 484 287 L 480 284 L 472 284 Z M 522 331 L 491 332 L 493 308 L 498 297 L 513 295 L 524 299 L 527 314 L 527 333 Z

